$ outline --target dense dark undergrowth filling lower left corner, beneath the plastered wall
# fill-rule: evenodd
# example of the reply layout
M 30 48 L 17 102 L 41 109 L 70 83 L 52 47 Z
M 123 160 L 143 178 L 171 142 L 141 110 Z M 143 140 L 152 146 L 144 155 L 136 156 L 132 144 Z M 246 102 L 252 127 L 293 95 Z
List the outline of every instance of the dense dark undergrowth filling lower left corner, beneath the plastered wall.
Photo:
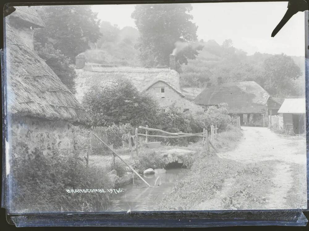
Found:
M 113 187 L 107 173 L 75 155 L 55 150 L 43 155 L 40 149 L 15 153 L 11 162 L 12 212 L 94 212 L 110 204 L 106 193 L 68 193 L 66 189 L 108 189 Z M 15 152 L 15 150 L 13 150 Z

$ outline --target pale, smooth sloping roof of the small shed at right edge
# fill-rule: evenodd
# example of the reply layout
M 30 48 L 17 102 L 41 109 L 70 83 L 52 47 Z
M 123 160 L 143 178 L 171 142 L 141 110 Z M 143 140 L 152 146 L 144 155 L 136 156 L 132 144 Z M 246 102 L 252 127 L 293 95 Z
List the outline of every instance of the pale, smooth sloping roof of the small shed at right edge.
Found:
M 305 114 L 306 99 L 285 99 L 278 113 Z

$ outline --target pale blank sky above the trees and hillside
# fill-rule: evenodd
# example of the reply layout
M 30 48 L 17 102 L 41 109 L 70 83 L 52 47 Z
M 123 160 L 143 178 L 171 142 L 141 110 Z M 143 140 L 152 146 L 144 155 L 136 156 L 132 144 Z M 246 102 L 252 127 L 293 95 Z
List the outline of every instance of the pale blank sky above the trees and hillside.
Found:
M 248 55 L 255 52 L 304 56 L 304 12 L 298 12 L 272 38 L 271 33 L 287 10 L 287 2 L 192 3 L 193 22 L 198 39 L 219 44 L 231 39 L 236 48 Z M 101 21 L 118 27 L 135 27 L 131 13 L 135 5 L 95 5 Z

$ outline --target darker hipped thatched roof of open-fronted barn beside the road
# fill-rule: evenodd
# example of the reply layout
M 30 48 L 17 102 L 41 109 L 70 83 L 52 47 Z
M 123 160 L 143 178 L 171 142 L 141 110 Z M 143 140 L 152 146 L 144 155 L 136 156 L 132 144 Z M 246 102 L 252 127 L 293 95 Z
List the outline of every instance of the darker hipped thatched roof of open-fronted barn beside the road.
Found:
M 206 87 L 196 98 L 200 105 L 227 103 L 230 113 L 262 113 L 267 110 L 269 94 L 254 81 L 223 83 Z

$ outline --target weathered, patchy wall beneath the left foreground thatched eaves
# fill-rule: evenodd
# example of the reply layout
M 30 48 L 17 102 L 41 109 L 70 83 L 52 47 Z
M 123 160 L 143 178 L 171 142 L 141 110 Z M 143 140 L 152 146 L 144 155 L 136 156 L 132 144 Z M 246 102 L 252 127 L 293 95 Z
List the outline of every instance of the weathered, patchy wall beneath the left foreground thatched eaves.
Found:
M 18 154 L 25 145 L 29 153 L 35 148 L 43 154 L 52 150 L 58 150 L 61 154 L 74 151 L 74 132 L 68 122 L 13 117 L 9 124 L 8 138 L 13 154 Z

